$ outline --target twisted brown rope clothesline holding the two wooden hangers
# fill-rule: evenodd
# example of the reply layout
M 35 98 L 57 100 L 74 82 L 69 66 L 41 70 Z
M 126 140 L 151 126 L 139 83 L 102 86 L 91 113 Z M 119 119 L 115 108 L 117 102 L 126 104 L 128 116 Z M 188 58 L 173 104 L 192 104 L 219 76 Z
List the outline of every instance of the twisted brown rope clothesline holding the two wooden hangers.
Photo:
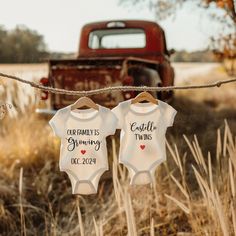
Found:
M 83 91 L 76 91 L 76 90 L 66 90 L 66 89 L 60 89 L 60 88 L 53 88 L 44 86 L 32 81 L 24 80 L 22 78 L 19 78 L 17 76 L 8 75 L 0 72 L 0 77 L 12 79 L 19 81 L 24 84 L 28 84 L 31 87 L 48 91 L 51 93 L 56 94 L 66 94 L 66 95 L 78 95 L 78 96 L 89 96 L 89 95 L 95 95 L 95 94 L 101 94 L 106 92 L 113 92 L 113 91 L 171 91 L 171 90 L 179 90 L 179 89 L 202 89 L 202 88 L 212 88 L 212 87 L 220 87 L 222 84 L 227 83 L 233 83 L 236 82 L 235 79 L 228 79 L 228 80 L 220 80 L 216 81 L 214 83 L 209 84 L 200 84 L 200 85 L 187 85 L 187 86 L 168 86 L 168 87 L 147 87 L 147 86 L 114 86 L 114 87 L 105 87 L 100 89 L 94 89 L 94 90 L 83 90 Z

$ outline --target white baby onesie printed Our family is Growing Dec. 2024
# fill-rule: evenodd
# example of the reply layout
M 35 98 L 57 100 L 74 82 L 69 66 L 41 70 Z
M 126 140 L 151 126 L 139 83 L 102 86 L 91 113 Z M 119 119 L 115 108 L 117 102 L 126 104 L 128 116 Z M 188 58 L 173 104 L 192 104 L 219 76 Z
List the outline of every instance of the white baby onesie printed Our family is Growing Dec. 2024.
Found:
M 68 174 L 73 194 L 96 193 L 108 170 L 106 137 L 115 133 L 118 120 L 108 108 L 98 107 L 71 110 L 70 105 L 49 121 L 61 138 L 59 167 Z

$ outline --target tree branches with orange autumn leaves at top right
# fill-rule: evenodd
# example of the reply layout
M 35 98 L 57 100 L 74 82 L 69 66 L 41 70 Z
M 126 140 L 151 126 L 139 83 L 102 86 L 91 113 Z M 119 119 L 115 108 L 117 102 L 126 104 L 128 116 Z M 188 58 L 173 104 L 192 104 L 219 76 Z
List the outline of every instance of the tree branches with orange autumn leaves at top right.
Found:
M 209 45 L 218 58 L 230 59 L 231 73 L 235 73 L 234 68 L 236 60 L 236 1 L 235 0 L 120 0 L 120 3 L 125 5 L 145 5 L 150 11 L 154 11 L 158 20 L 165 19 L 174 15 L 178 8 L 182 7 L 187 2 L 197 3 L 199 7 L 208 9 L 215 7 L 221 9 L 224 14 L 220 16 L 211 15 L 213 20 L 218 21 L 222 25 L 222 30 L 217 37 L 211 38 Z M 223 16 L 222 16 L 223 15 Z M 224 32 L 228 32 L 225 34 Z M 230 33 L 229 33 L 230 32 Z

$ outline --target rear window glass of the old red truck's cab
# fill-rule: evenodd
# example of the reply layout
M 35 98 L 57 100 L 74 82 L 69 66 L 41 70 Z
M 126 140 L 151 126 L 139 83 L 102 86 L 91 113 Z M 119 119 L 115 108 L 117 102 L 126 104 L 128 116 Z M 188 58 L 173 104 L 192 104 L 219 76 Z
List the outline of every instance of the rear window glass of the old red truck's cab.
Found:
M 143 29 L 102 29 L 89 34 L 89 48 L 118 49 L 144 48 L 146 36 Z

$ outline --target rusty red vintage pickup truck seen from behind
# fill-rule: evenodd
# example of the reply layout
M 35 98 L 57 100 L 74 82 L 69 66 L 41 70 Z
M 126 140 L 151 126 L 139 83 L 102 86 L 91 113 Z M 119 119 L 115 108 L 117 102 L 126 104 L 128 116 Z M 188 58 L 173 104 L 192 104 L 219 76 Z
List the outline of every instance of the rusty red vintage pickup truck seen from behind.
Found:
M 91 90 L 107 86 L 171 86 L 174 70 L 167 50 L 163 29 L 149 21 L 106 21 L 87 24 L 82 28 L 78 55 L 75 59 L 50 60 L 45 86 L 67 90 Z M 154 93 L 169 100 L 171 92 Z M 104 93 L 91 98 L 97 103 L 113 107 L 120 101 L 136 96 L 136 92 Z M 78 97 L 48 94 L 41 99 L 46 108 L 37 113 L 54 114 Z M 44 106 L 44 105 L 43 105 Z

